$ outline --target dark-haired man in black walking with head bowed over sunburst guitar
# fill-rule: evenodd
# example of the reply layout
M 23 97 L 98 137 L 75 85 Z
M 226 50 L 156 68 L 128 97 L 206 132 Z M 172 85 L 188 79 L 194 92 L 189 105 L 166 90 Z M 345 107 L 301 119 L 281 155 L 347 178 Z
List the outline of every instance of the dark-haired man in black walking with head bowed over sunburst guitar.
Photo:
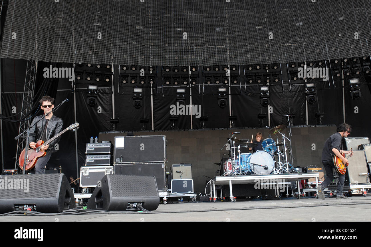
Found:
M 331 135 L 326 141 L 324 148 L 322 149 L 322 164 L 326 170 L 327 178 L 322 184 L 318 185 L 318 196 L 322 200 L 325 200 L 325 193 L 324 189 L 332 182 L 334 179 L 333 168 L 334 165 L 334 156 L 339 158 L 343 164 L 347 164 L 348 160 L 342 153 L 349 154 L 349 156 L 353 155 L 353 151 L 344 151 L 340 149 L 341 146 L 341 138 L 347 137 L 351 134 L 351 126 L 347 123 L 341 123 L 336 127 L 336 133 Z M 343 187 L 344 187 L 344 180 L 345 180 L 345 172 L 344 174 L 338 174 L 338 188 L 336 190 L 336 199 L 346 199 L 347 197 L 343 195 Z

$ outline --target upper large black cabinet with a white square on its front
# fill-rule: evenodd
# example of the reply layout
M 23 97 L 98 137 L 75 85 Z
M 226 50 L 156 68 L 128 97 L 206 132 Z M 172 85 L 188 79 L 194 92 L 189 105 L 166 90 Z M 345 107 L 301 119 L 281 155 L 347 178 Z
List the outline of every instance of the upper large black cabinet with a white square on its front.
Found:
M 115 164 L 166 162 L 164 135 L 115 136 Z

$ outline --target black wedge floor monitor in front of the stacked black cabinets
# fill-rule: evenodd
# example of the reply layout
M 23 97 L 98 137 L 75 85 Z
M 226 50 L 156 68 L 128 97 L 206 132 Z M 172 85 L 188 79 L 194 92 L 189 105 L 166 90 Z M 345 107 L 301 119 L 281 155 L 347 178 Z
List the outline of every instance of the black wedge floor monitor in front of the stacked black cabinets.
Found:
M 156 178 L 133 175 L 105 175 L 101 187 L 96 187 L 88 202 L 88 209 L 124 211 L 142 204 L 153 211 L 160 204 Z

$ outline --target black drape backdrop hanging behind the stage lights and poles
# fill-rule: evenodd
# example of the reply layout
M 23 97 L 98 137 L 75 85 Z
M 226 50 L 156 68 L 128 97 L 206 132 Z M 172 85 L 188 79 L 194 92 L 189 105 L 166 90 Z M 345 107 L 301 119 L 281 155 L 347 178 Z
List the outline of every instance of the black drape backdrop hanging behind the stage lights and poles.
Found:
M 1 82 L 1 99 L 2 111 L 6 116 L 12 116 L 21 110 L 22 96 L 24 86 L 24 77 L 26 71 L 26 62 L 24 60 L 2 59 L 2 82 Z M 112 94 L 110 89 L 99 89 L 97 104 L 93 107 L 87 104 L 87 93 L 73 93 L 71 89 L 71 81 L 67 78 L 43 78 L 44 67 L 50 63 L 39 62 L 35 85 L 35 94 L 39 92 L 41 95 L 50 95 L 55 98 L 55 106 L 62 102 L 65 98 L 69 102 L 65 103 L 55 115 L 63 119 L 63 128 L 72 124 L 74 119 L 74 101 L 73 96 L 76 96 L 76 120 L 80 123 L 80 128 L 77 131 L 78 143 L 78 166 L 82 166 L 85 160 L 85 145 L 89 142 L 91 136 L 98 136 L 100 131 L 111 131 L 110 119 L 112 118 Z M 72 64 L 55 63 L 56 67 L 72 67 Z M 15 74 L 15 77 L 14 77 Z M 371 83 L 370 79 L 363 79 L 365 82 Z M 362 80 L 361 80 L 362 81 Z M 330 81 L 332 85 L 332 81 Z M 346 82 L 347 85 L 348 82 Z M 318 84 L 319 85 L 319 84 Z M 323 82 L 319 85 L 321 88 L 326 88 L 328 82 Z M 308 106 L 308 121 L 309 124 L 315 124 L 315 112 L 324 112 L 322 124 L 338 124 L 343 121 L 343 102 L 342 102 L 342 81 L 335 80 L 336 88 L 331 86 L 331 89 L 317 90 L 318 101 L 314 105 Z M 199 87 L 192 89 L 192 104 L 201 105 L 201 115 L 208 116 L 209 121 L 205 122 L 205 128 L 228 128 L 229 127 L 229 105 L 225 108 L 218 106 L 217 87 L 205 87 L 205 93 L 199 92 Z M 118 95 L 118 85 L 115 84 L 115 118 L 119 118 L 117 131 L 133 131 L 140 130 L 140 118 L 148 118 L 149 123 L 146 124 L 146 130 L 151 130 L 151 96 L 150 89 L 145 88 L 142 95 L 143 105 L 140 109 L 135 109 L 132 105 L 132 95 Z M 280 93 L 282 88 L 271 87 L 270 106 L 272 112 L 270 114 L 270 126 L 287 124 L 287 118 L 282 115 L 287 113 L 296 114 L 293 119 L 294 125 L 306 125 L 306 109 L 305 109 L 305 86 L 292 85 L 292 90 L 300 92 L 289 92 L 289 87 L 284 86 L 284 92 Z M 319 89 L 319 88 L 318 88 Z M 132 88 L 130 89 L 132 92 Z M 154 86 L 153 89 L 153 118 L 154 129 L 170 129 L 170 106 L 176 104 L 176 89 L 161 88 L 158 92 Z M 233 87 L 231 90 L 232 115 L 237 116 L 235 122 L 236 127 L 256 127 L 258 126 L 257 114 L 267 113 L 268 108 L 260 106 L 259 88 L 248 87 L 247 93 L 242 86 L 242 93 L 239 93 L 240 88 Z M 17 93 L 15 93 L 17 91 Z M 361 86 L 362 97 L 358 100 L 350 98 L 349 88 L 345 89 L 345 121 L 353 127 L 351 136 L 371 136 L 371 131 L 368 126 L 370 120 L 371 93 L 369 86 Z M 251 93 L 251 94 L 250 94 Z M 173 95 L 173 96 L 167 96 Z M 227 101 L 229 104 L 229 95 Z M 190 104 L 189 88 L 186 88 L 185 103 Z M 39 97 L 35 98 L 35 104 Z M 317 105 L 318 104 L 318 105 Z M 15 107 L 15 108 L 14 108 Z M 319 108 L 319 109 L 318 109 Z M 13 113 L 13 110 L 16 113 Z M 42 114 L 41 111 L 36 115 Z M 35 112 L 32 112 L 32 117 Z M 17 119 L 16 117 L 13 119 Z M 193 116 L 193 128 L 200 128 L 200 119 Z M 267 125 L 267 119 L 265 123 Z M 179 115 L 176 122 L 176 129 L 191 128 L 190 116 Z M 4 138 L 4 164 L 5 168 L 13 168 L 16 154 L 16 141 L 13 139 L 17 135 L 19 123 L 8 123 L 3 121 L 3 138 Z M 329 133 L 330 134 L 330 133 Z M 102 141 L 102 140 L 99 140 Z M 62 171 L 66 175 L 76 177 L 76 152 L 75 152 L 75 133 L 69 131 L 64 134 L 59 142 L 59 151 L 53 154 L 53 160 L 50 161 L 50 166 L 61 166 Z

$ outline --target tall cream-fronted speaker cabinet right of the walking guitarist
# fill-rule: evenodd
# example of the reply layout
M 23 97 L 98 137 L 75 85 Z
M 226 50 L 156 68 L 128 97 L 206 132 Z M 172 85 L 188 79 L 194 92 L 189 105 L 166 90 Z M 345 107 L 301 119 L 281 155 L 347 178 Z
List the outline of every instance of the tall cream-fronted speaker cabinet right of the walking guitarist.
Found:
M 345 174 L 345 184 L 365 184 L 370 182 L 365 151 L 356 150 L 353 153 L 354 155 L 348 158 L 349 165 Z

